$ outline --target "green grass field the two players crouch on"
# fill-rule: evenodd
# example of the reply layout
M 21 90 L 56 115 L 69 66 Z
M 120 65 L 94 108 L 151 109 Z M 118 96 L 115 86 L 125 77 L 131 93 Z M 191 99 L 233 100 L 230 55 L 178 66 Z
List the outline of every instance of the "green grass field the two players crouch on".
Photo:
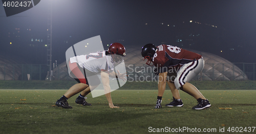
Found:
M 169 90 L 161 109 L 154 109 L 157 90 L 116 90 L 112 99 L 118 109 L 110 109 L 104 95 L 91 94 L 87 101 L 92 106 L 76 104 L 77 95 L 68 100 L 73 109 L 54 106 L 66 91 L 0 90 L 0 133 L 154 133 L 150 131 L 160 128 L 176 133 L 256 133 L 255 90 L 201 90 L 212 106 L 199 111 L 191 109 L 196 99 L 183 91 L 183 107 L 164 106 L 172 101 Z

